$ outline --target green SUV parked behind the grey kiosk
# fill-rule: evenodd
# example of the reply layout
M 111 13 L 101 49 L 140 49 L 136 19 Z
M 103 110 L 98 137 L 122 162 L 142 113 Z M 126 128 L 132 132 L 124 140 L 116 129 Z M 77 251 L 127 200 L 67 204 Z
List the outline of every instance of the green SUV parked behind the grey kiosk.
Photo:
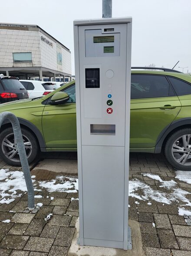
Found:
M 159 68 L 158 68 L 159 69 Z M 48 95 L 0 105 L 15 114 L 29 163 L 39 151 L 76 151 L 76 93 L 70 82 Z M 175 70 L 133 70 L 131 152 L 164 152 L 179 170 L 191 171 L 191 75 Z M 0 128 L 0 155 L 20 165 L 12 126 Z

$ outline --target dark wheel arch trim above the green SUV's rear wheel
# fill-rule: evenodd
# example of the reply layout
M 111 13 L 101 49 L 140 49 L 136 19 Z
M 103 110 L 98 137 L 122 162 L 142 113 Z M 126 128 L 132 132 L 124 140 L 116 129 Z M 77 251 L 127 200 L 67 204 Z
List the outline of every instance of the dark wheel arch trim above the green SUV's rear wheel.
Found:
M 158 135 L 157 143 L 155 146 L 155 154 L 161 153 L 162 145 L 168 134 L 175 130 L 176 128 L 184 125 L 191 125 L 191 117 L 181 118 L 174 122 L 172 122 L 170 125 L 166 126 L 161 133 Z

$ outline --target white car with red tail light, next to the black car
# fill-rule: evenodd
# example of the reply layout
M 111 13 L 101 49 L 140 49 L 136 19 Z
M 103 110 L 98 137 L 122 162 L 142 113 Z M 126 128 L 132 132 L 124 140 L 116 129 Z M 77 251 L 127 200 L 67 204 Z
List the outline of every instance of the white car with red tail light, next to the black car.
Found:
M 19 80 L 19 81 L 23 84 L 25 89 L 28 91 L 29 98 L 45 96 L 55 89 L 53 85 L 46 86 L 46 85 L 43 85 L 41 81 L 36 81 L 36 80 Z

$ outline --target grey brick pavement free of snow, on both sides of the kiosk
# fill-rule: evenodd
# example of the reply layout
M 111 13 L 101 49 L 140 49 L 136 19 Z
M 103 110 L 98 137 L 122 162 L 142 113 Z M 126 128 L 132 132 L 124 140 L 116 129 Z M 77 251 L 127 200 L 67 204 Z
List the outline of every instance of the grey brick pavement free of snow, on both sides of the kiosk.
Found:
M 0 162 L 2 167 L 15 169 Z M 143 173 L 157 174 L 166 181 L 174 180 L 179 188 L 191 192 L 191 185 L 175 179 L 175 171 L 161 154 L 130 154 L 129 179 L 136 178 L 154 190 L 169 192 Z M 141 195 L 142 191 L 139 192 Z M 78 201 L 71 201 L 71 198 L 78 195 L 49 193 L 45 189 L 36 191 L 36 194 L 43 196 L 36 198 L 36 201 L 43 202 L 36 214 L 23 213 L 27 206 L 24 193 L 10 204 L 0 205 L 0 256 L 67 255 L 79 215 Z M 186 196 L 191 200 L 191 195 Z M 50 197 L 54 199 L 50 200 Z M 191 226 L 178 215 L 178 204 L 151 203 L 148 205 L 148 201 L 129 197 L 129 218 L 140 224 L 145 256 L 191 256 Z M 53 217 L 46 222 L 44 218 L 49 213 L 53 213 Z M 8 218 L 10 223 L 1 222 Z

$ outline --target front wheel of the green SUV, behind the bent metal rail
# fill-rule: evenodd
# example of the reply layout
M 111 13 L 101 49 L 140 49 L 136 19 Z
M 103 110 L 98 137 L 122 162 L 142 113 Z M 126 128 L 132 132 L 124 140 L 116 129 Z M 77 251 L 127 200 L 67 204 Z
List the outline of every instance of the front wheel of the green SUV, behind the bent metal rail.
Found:
M 39 145 L 33 133 L 24 128 L 21 128 L 21 132 L 23 134 L 23 141 L 25 143 L 27 160 L 30 164 L 39 153 Z M 18 150 L 16 144 L 14 143 L 14 133 L 12 127 L 3 130 L 0 133 L 0 156 L 7 164 L 21 166 Z

